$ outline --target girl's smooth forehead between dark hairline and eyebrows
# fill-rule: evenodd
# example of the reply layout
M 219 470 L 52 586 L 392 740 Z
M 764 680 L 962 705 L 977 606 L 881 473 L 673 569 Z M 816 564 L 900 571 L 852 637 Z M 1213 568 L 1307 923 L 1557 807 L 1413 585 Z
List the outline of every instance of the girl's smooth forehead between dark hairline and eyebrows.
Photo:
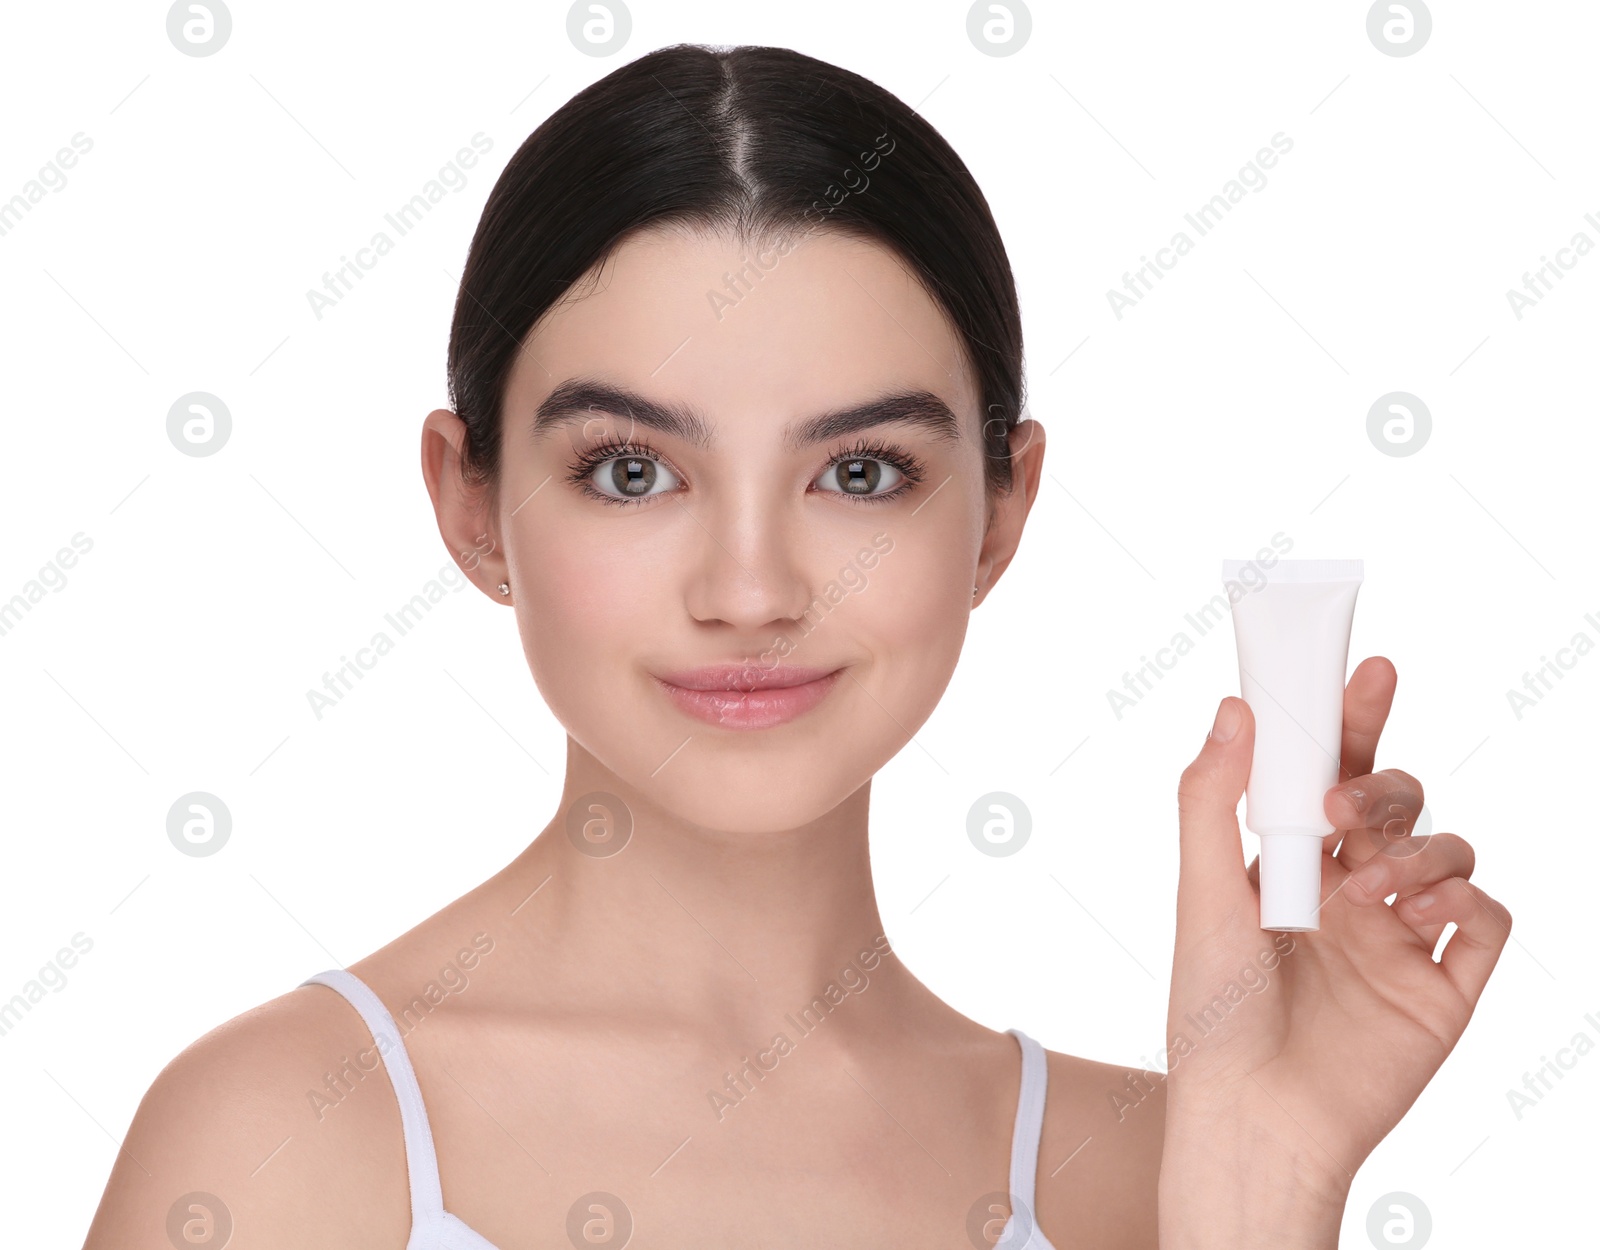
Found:
M 978 429 L 976 386 L 942 309 L 891 251 L 827 230 L 747 245 L 632 235 L 539 323 L 507 411 L 526 416 L 573 376 L 691 403 L 718 442 L 904 391 L 938 395 Z

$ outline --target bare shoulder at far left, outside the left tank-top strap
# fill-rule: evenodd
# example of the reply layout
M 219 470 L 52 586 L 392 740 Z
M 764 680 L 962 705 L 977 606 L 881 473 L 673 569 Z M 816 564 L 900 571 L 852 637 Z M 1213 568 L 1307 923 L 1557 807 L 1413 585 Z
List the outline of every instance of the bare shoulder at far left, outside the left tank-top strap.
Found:
M 400 1111 L 366 1024 L 326 986 L 219 1024 L 162 1069 L 85 1250 L 222 1244 L 222 1221 L 251 1245 L 405 1245 Z

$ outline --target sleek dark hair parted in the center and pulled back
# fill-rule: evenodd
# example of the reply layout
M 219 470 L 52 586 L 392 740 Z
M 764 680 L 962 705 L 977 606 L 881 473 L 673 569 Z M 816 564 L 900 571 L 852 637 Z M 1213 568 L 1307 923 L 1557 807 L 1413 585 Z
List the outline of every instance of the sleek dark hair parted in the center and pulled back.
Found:
M 494 182 L 450 327 L 450 400 L 467 427 L 470 485 L 498 496 L 501 405 L 528 335 L 646 226 L 733 235 L 755 248 L 741 270 L 749 282 L 774 262 L 762 245 L 816 229 L 898 254 L 965 347 L 990 504 L 1011 490 L 1022 322 L 1000 232 L 966 165 L 859 74 L 789 48 L 696 43 L 659 48 L 579 91 Z M 730 302 L 738 290 L 725 293 Z M 717 315 L 709 299 L 707 317 Z

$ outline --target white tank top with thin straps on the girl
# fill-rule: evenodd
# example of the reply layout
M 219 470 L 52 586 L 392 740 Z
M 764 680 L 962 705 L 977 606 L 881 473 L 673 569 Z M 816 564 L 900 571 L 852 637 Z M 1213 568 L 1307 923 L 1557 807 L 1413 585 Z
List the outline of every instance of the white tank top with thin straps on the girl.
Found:
M 434 1132 L 427 1127 L 422 1088 L 416 1084 L 411 1056 L 406 1055 L 405 1040 L 382 999 L 354 972 L 344 968 L 320 972 L 301 984 L 328 986 L 342 994 L 362 1013 L 368 1032 L 379 1044 L 384 1071 L 389 1072 L 389 1084 L 400 1103 L 405 1165 L 411 1181 L 411 1237 L 405 1244 L 406 1250 L 499 1250 L 482 1232 L 445 1210 L 445 1196 L 438 1183 L 438 1156 L 434 1152 Z M 1018 1092 L 1016 1124 L 1011 1130 L 1011 1213 L 994 1250 L 1056 1250 L 1032 1218 L 1038 1138 L 1045 1124 L 1045 1048 L 1021 1029 L 1006 1032 L 1016 1037 L 1022 1048 L 1022 1087 Z

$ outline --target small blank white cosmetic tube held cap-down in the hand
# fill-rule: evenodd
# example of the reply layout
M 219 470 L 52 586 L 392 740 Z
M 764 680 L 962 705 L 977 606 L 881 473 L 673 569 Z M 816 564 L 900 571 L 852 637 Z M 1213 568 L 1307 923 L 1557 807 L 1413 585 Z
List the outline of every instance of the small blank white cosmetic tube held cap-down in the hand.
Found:
M 1339 784 L 1360 560 L 1222 560 L 1238 690 L 1256 719 L 1245 827 L 1261 835 L 1261 927 L 1322 927 L 1323 797 Z

